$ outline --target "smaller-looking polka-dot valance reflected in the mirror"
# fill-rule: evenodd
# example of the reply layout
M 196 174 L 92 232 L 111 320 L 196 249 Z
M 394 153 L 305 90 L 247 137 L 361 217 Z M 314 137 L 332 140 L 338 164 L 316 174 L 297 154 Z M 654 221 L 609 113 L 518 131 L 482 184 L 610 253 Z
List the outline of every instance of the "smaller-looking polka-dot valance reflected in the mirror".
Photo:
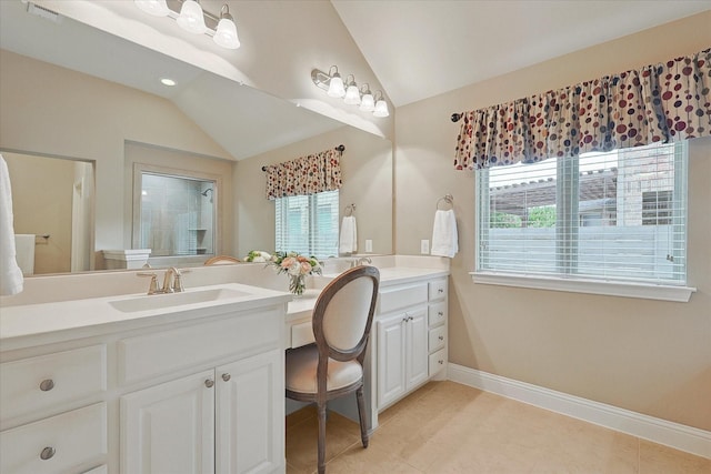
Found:
M 341 153 L 324 150 L 264 168 L 267 199 L 314 194 L 341 188 Z

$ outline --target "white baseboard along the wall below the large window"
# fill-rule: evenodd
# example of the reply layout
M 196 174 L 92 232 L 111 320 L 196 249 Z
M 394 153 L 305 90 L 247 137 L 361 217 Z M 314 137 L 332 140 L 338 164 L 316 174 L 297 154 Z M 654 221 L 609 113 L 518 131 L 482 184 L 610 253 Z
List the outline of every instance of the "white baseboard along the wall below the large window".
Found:
M 452 382 L 711 458 L 711 432 L 449 363 Z

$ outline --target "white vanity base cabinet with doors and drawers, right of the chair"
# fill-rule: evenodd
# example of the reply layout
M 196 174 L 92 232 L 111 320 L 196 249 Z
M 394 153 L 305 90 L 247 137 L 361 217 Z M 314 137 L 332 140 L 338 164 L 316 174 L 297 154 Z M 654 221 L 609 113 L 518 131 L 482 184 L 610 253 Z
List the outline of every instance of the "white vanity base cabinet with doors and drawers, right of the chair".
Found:
M 443 369 L 445 337 L 445 278 L 381 286 L 375 315 L 378 411 Z

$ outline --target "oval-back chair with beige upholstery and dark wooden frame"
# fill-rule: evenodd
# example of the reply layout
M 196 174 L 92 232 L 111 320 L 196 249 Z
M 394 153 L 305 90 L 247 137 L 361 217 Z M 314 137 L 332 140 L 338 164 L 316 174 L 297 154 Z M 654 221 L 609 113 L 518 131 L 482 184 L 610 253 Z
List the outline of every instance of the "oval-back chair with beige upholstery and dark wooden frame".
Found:
M 380 272 L 374 266 L 357 266 L 341 273 L 321 291 L 313 309 L 316 343 L 287 351 L 287 396 L 317 405 L 319 474 L 326 473 L 329 400 L 356 392 L 361 441 L 368 447 L 363 360 L 379 285 Z

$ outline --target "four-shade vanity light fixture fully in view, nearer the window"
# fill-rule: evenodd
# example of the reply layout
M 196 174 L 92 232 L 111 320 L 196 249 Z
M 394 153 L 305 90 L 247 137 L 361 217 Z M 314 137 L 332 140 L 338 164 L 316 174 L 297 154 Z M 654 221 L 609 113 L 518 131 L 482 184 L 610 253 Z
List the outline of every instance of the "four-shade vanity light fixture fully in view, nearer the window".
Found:
M 380 95 L 375 100 L 367 83 L 360 90 L 358 89 L 353 74 L 348 74 L 344 87 L 336 65 L 331 65 L 329 72 L 323 72 L 320 69 L 311 70 L 311 80 L 318 88 L 327 91 L 329 97 L 343 99 L 346 103 L 351 105 L 359 105 L 359 109 L 363 112 L 373 112 L 374 117 L 390 115 L 382 91 L 378 91 Z

